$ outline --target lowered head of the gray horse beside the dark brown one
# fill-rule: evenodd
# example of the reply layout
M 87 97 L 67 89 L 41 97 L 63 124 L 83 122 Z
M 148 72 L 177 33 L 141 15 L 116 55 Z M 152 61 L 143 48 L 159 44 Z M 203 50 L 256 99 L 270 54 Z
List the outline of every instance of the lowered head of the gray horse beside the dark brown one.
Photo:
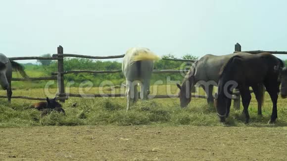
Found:
M 187 107 L 188 104 L 191 102 L 191 87 L 193 84 L 194 76 L 191 76 L 190 79 L 185 79 L 183 81 L 182 86 L 180 84 L 176 84 L 177 87 L 180 89 L 179 98 L 181 107 Z

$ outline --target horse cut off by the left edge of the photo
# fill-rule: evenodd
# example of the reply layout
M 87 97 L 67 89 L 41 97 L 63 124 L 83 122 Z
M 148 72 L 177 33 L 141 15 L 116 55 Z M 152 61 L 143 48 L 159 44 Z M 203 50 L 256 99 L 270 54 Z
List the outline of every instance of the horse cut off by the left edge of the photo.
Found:
M 0 53 L 0 85 L 4 90 L 7 90 L 8 102 L 11 102 L 12 89 L 11 79 L 12 70 L 15 70 L 21 74 L 22 77 L 27 78 L 27 74 L 24 72 L 24 67 L 17 62 L 9 60 L 4 54 Z

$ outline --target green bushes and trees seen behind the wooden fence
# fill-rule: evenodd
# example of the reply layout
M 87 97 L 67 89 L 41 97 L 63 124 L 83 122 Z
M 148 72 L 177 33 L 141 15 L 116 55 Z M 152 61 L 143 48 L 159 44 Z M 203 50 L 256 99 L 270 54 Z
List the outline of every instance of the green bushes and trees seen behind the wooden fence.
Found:
M 50 57 L 51 54 L 42 55 L 43 57 Z M 175 55 L 166 54 L 162 58 L 169 59 L 178 59 Z M 191 54 L 186 54 L 181 59 L 196 60 L 197 56 Z M 57 71 L 57 61 L 54 60 L 37 60 L 38 65 L 35 65 L 34 68 L 43 68 L 43 71 L 46 75 L 50 75 L 51 72 Z M 64 70 L 95 70 L 95 71 L 105 71 L 105 70 L 121 70 L 122 63 L 121 61 L 101 61 L 85 58 L 64 58 Z M 158 60 L 154 63 L 155 70 L 164 70 L 164 69 L 188 69 L 187 62 L 179 61 L 167 61 L 167 60 Z M 75 81 L 75 85 L 83 82 L 84 80 L 92 81 L 95 86 L 98 86 L 103 80 L 110 80 L 114 84 L 119 85 L 125 81 L 125 78 L 122 73 L 113 73 L 113 74 L 69 74 L 65 75 L 65 81 Z M 151 84 L 157 80 L 162 80 L 163 83 L 167 83 L 167 77 L 170 80 L 182 80 L 183 76 L 181 74 L 156 74 L 152 76 Z

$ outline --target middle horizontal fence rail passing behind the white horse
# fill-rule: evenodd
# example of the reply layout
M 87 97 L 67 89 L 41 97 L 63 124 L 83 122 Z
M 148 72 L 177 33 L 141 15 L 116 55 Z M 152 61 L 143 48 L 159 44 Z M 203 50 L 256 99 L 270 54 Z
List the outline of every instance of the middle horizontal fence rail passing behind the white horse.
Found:
M 77 71 L 64 71 L 61 74 L 77 74 L 77 73 L 94 73 L 94 74 L 104 74 L 104 73 L 121 73 L 122 70 L 114 70 L 114 71 L 89 71 L 89 70 L 77 70 Z M 189 70 L 154 70 L 152 73 L 181 73 L 181 72 L 189 72 Z M 52 72 L 51 75 L 58 75 L 58 72 Z

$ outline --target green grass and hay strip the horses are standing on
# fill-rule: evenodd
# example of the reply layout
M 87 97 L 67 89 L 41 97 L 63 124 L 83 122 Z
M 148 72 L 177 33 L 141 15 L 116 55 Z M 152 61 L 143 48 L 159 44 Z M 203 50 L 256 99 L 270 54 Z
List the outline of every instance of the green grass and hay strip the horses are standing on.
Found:
M 161 85 L 153 90 L 159 91 L 157 94 L 166 94 L 166 86 Z M 86 88 L 72 87 L 71 93 L 79 93 L 79 90 L 86 94 L 96 94 L 99 90 L 110 93 L 108 88 L 99 89 L 93 87 L 90 90 Z M 177 87 L 171 86 L 173 94 L 177 93 Z M 55 88 L 49 90 L 51 95 L 56 93 Z M 120 93 L 116 89 L 115 93 Z M 5 91 L 0 92 L 1 95 Z M 199 94 L 203 94 L 202 91 Z M 30 97 L 42 97 L 46 95 L 43 89 L 16 89 L 13 95 L 23 95 Z M 43 126 L 43 125 L 205 125 L 222 126 L 216 116 L 214 107 L 209 107 L 205 99 L 192 98 L 187 108 L 180 108 L 178 98 L 150 99 L 148 101 L 139 101 L 126 112 L 126 98 L 72 98 L 70 97 L 63 108 L 66 116 L 53 112 L 50 115 L 40 118 L 40 111 L 29 108 L 32 103 L 37 101 L 12 99 L 11 104 L 7 104 L 6 99 L 0 99 L 0 127 L 25 127 L 25 126 Z M 77 103 L 76 107 L 72 104 Z M 287 100 L 279 98 L 278 100 L 278 121 L 275 126 L 287 125 Z M 233 106 L 233 105 L 232 105 Z M 241 117 L 241 110 L 231 108 L 231 116 L 227 120 L 228 125 L 245 126 Z M 266 94 L 263 109 L 263 118 L 257 118 L 257 102 L 252 97 L 249 106 L 251 122 L 250 126 L 267 126 L 267 122 L 272 112 L 272 102 L 269 95 Z

